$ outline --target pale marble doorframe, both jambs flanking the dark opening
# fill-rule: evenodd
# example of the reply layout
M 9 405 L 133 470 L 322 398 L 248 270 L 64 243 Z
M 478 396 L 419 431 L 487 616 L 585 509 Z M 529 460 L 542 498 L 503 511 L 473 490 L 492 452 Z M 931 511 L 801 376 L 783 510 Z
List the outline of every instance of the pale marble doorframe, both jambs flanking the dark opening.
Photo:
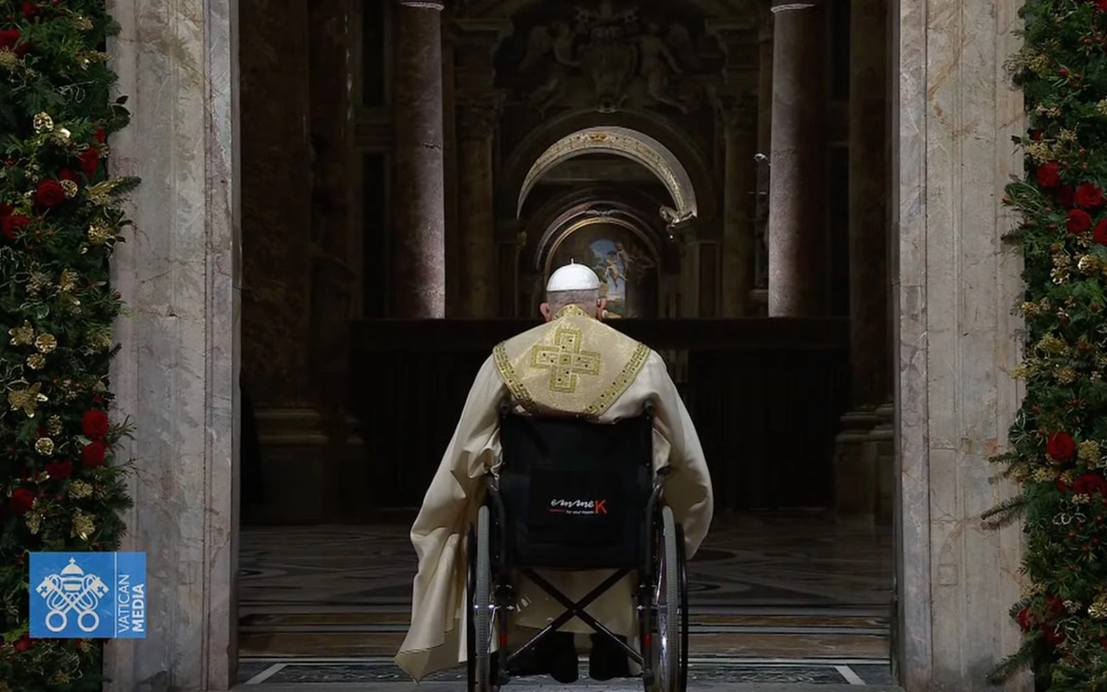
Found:
M 226 690 L 236 664 L 238 223 L 236 0 L 108 0 L 138 175 L 115 282 L 131 307 L 113 386 L 137 438 L 126 548 L 149 554 L 149 633 L 107 648 L 113 692 Z M 1020 0 L 898 0 L 890 142 L 899 361 L 897 641 L 909 692 L 984 690 L 1018 632 L 1021 534 L 981 525 L 1012 488 L 987 456 L 1021 392 L 1018 261 L 1000 199 L 1021 173 L 1022 99 L 1002 80 Z M 986 688 L 992 690 L 994 688 Z M 1021 678 L 1005 688 L 1030 690 Z

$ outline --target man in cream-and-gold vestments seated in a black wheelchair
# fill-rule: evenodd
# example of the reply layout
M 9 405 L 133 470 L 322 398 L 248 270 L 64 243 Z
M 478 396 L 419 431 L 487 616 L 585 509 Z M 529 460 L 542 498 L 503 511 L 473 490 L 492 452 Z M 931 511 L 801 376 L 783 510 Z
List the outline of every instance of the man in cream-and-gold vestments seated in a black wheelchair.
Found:
M 412 527 L 414 679 L 687 680 L 687 571 L 712 517 L 695 426 L 654 351 L 603 324 L 600 282 L 559 268 L 546 323 L 498 344 Z

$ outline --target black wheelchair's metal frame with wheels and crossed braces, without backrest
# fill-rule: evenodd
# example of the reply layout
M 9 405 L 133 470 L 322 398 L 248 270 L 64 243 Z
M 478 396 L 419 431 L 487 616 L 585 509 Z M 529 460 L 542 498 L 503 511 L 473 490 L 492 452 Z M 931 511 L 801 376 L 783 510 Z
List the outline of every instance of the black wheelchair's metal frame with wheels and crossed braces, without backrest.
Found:
M 510 403 L 500 404 L 500 416 L 510 414 Z M 648 402 L 643 406 L 643 414 L 652 421 L 653 404 Z M 504 518 L 507 516 L 504 498 L 500 494 L 498 479 L 488 474 L 486 476 L 486 493 L 480 506 L 480 513 L 487 513 L 487 519 L 478 513 L 479 525 L 487 521 L 487 529 L 478 529 L 470 525 L 468 531 L 468 570 L 467 570 L 467 607 L 468 617 L 466 619 L 466 634 L 468 643 L 467 672 L 469 692 L 494 692 L 510 680 L 508 673 L 513 663 L 531 651 L 542 639 L 559 630 L 563 624 L 573 618 L 579 619 L 593 632 L 606 637 L 619 645 L 627 657 L 641 667 L 641 679 L 645 692 L 685 692 L 687 688 L 687 640 L 689 640 L 689 608 L 687 608 L 687 564 L 684 550 L 684 530 L 675 521 L 672 510 L 664 504 L 664 479 L 671 468 L 664 466 L 659 468 L 653 476 L 652 489 L 645 503 L 642 520 L 642 545 L 640 546 L 638 568 L 620 568 L 614 574 L 604 579 L 600 585 L 589 591 L 579 601 L 573 601 L 559 591 L 548 580 L 535 571 L 535 567 L 526 565 L 511 565 L 509 551 L 508 530 L 505 530 Z M 478 531 L 487 530 L 489 545 L 487 547 L 478 545 Z M 660 545 L 655 545 L 660 544 Z M 665 554 L 675 546 L 675 560 L 670 556 L 665 559 Z M 489 593 L 487 600 L 489 617 L 480 618 L 476 593 L 479 588 L 478 556 L 483 550 L 489 551 L 490 577 L 488 582 Z M 664 560 L 664 562 L 662 562 Z M 670 564 L 673 562 L 673 564 Z M 566 610 L 555 618 L 537 634 L 530 638 L 515 651 L 508 651 L 507 640 L 510 626 L 510 614 L 517 610 L 515 605 L 515 588 L 511 580 L 513 569 L 518 569 L 520 576 L 530 579 L 542 591 L 554 598 Z M 540 568 L 538 568 L 540 569 Z M 593 568 L 580 568 L 573 570 L 567 568 L 566 571 L 587 571 Z M 639 643 L 641 651 L 634 650 L 630 644 L 619 639 L 619 637 L 608 629 L 602 622 L 590 616 L 586 608 L 597 598 L 602 596 L 614 585 L 621 581 L 627 575 L 634 572 L 637 576 L 635 609 L 639 620 Z M 659 603 L 661 597 L 662 581 L 664 578 L 665 599 L 665 631 L 659 627 L 661 617 Z M 675 583 L 673 581 L 675 580 Z M 656 589 L 656 590 L 655 590 Z M 673 597 L 676 603 L 670 603 Z M 676 612 L 676 621 L 670 623 L 669 618 L 672 611 Z M 490 680 L 490 638 L 493 634 L 493 619 L 498 627 L 498 678 Z M 487 636 L 489 641 L 485 647 L 478 647 L 476 628 L 477 622 L 487 623 Z M 485 627 L 485 626 L 480 626 Z M 675 628 L 675 630 L 673 629 Z M 658 634 L 658 640 L 654 640 Z M 676 641 L 669 641 L 673 634 Z M 675 649 L 675 651 L 674 651 Z M 482 651 L 483 650 L 483 651 Z M 482 674 L 483 673 L 483 674 Z

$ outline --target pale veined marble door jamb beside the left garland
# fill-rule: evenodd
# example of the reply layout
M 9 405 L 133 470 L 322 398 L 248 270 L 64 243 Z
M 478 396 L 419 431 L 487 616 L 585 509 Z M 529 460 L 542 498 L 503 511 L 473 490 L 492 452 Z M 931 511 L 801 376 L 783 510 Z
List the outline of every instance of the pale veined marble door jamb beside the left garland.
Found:
M 112 259 L 116 420 L 148 558 L 146 639 L 106 644 L 104 690 L 228 690 L 237 668 L 239 126 L 234 0 L 115 0 L 108 42 L 131 124 L 112 172 L 138 176 Z M 151 146 L 156 142 L 156 146 Z

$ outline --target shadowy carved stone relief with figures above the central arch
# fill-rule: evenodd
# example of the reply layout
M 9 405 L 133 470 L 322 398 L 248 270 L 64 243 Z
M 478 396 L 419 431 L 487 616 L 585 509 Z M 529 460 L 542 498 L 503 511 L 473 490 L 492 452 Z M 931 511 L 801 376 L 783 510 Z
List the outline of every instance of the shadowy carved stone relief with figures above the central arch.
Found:
M 717 72 L 687 25 L 663 27 L 640 18 L 638 8 L 617 10 L 611 0 L 520 33 L 526 51 L 509 71 L 527 105 L 542 115 L 559 105 L 612 112 L 630 104 L 689 113 L 703 101 L 705 75 Z

